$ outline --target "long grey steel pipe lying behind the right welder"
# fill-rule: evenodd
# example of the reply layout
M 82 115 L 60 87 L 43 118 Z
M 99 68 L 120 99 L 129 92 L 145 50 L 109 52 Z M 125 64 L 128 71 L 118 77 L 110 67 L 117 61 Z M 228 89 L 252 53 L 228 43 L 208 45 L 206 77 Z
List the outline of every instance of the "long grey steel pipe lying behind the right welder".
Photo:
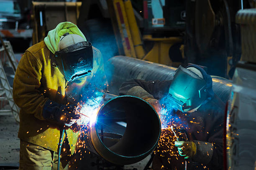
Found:
M 126 56 L 115 56 L 108 60 L 105 67 L 110 93 L 118 95 L 123 82 L 131 79 L 172 80 L 177 68 Z M 227 102 L 232 81 L 212 76 L 212 88 L 215 94 Z

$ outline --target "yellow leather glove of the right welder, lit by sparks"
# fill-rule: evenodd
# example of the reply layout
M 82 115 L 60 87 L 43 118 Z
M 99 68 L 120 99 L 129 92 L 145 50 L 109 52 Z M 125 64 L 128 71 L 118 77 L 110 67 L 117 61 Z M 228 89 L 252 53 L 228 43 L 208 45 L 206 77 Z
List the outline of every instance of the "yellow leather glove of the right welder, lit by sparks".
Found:
M 193 158 L 197 153 L 197 146 L 193 141 L 175 141 L 175 146 L 178 147 L 179 155 L 184 156 L 184 159 Z

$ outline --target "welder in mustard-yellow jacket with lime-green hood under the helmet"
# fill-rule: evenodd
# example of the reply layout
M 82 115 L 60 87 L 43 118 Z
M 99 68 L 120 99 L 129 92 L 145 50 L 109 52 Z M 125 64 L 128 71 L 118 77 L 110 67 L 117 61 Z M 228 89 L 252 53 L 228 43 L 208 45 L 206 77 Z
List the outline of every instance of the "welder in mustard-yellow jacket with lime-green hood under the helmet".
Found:
M 70 22 L 59 23 L 26 50 L 13 82 L 13 99 L 20 107 L 20 170 L 57 169 L 59 154 L 60 169 L 77 168 L 80 116 L 74 94 L 79 96 L 77 87 L 102 70 L 100 51 Z

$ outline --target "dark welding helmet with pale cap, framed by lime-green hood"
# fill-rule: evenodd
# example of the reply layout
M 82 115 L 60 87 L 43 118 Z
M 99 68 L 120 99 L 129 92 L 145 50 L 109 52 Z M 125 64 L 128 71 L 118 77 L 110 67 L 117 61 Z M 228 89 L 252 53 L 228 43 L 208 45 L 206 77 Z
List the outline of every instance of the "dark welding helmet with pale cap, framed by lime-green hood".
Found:
M 56 64 L 68 81 L 90 75 L 93 67 L 92 44 L 77 34 L 66 33 L 59 41 L 55 52 Z

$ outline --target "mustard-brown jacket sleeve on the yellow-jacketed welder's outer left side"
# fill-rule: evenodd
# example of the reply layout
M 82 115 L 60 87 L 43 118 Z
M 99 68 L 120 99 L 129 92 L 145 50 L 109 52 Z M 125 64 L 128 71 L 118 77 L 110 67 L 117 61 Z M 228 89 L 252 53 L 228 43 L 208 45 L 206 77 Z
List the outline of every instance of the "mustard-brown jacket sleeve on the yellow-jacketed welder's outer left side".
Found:
M 20 59 L 15 77 L 13 81 L 13 100 L 28 114 L 40 120 L 44 120 L 42 116 L 43 107 L 48 100 L 39 91 L 41 85 L 41 62 L 26 51 Z

